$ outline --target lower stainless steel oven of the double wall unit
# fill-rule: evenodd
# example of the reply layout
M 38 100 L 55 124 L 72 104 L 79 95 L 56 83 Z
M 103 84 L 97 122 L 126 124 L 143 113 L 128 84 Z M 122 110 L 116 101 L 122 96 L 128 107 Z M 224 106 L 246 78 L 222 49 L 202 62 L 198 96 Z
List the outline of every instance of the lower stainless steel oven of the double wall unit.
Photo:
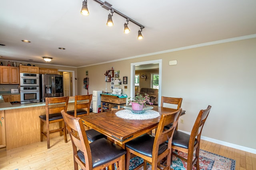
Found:
M 20 87 L 20 104 L 40 102 L 39 86 Z

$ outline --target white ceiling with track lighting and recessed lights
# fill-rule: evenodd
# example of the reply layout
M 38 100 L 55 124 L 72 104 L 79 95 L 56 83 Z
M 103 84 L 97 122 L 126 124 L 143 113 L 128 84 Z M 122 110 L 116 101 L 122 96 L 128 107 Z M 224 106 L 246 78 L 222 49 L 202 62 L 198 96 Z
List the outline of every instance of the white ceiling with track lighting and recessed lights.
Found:
M 256 34 L 256 0 L 107 0 L 112 7 L 145 26 L 139 27 L 88 0 L 1 0 L 0 56 L 10 61 L 86 66 L 190 45 Z M 31 43 L 23 43 L 28 39 Z M 66 50 L 60 50 L 64 47 Z

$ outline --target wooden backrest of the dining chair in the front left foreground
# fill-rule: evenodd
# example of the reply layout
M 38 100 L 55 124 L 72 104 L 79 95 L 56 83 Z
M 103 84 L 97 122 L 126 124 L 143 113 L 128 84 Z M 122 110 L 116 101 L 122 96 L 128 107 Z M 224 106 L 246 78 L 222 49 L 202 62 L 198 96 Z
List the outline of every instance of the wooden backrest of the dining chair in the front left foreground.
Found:
M 76 161 L 83 170 L 92 170 L 92 154 L 82 119 L 68 115 L 64 110 L 62 110 L 61 113 L 72 141 L 74 161 Z M 84 153 L 85 164 L 78 157 L 77 150 L 81 150 Z M 76 164 L 74 165 L 76 166 Z M 77 168 L 78 167 L 75 167 L 74 169 Z

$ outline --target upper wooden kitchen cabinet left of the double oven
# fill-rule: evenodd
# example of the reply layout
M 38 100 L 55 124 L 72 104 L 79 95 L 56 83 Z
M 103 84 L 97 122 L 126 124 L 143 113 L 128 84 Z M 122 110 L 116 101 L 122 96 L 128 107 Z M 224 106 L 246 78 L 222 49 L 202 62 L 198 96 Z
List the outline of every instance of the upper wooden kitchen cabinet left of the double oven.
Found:
M 0 66 L 0 84 L 20 84 L 19 68 Z

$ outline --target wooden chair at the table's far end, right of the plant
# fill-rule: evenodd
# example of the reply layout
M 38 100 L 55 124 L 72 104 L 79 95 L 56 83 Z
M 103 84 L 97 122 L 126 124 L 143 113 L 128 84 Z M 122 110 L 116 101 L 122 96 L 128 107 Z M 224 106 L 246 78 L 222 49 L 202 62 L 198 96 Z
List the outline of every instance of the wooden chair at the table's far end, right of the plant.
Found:
M 177 106 L 175 107 L 175 109 L 180 109 L 181 103 L 182 103 L 182 98 L 171 98 L 171 97 L 164 97 L 164 96 L 162 96 L 161 98 L 161 107 L 172 108 L 173 106 Z M 168 104 L 170 105 L 168 106 Z M 172 124 L 166 125 L 164 129 L 169 129 L 170 127 L 172 127 Z M 176 129 L 178 129 L 178 125 L 176 126 Z

